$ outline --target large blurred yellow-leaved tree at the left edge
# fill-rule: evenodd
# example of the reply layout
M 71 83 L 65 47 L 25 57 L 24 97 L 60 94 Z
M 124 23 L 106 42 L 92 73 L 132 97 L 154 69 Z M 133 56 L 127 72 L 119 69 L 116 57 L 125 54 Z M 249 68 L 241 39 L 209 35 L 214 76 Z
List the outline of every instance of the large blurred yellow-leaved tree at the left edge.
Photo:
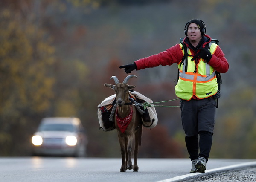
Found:
M 50 42 L 44 30 L 12 9 L 0 12 L 0 155 L 28 145 L 31 121 L 50 107 L 55 51 Z

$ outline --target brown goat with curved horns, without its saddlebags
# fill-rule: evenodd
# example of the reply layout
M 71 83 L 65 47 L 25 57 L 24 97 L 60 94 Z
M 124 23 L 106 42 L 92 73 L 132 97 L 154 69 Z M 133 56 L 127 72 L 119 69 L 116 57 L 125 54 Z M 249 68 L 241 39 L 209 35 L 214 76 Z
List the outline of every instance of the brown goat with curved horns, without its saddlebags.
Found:
M 136 110 L 136 107 L 133 105 L 125 105 L 125 103 L 129 101 L 129 90 L 133 89 L 135 86 L 128 85 L 127 81 L 132 78 L 137 77 L 135 75 L 128 75 L 123 83 L 119 83 L 119 80 L 116 76 L 112 76 L 116 83 L 116 85 L 104 84 L 105 87 L 110 87 L 116 92 L 116 114 L 114 115 L 115 126 L 118 134 L 118 139 L 121 148 L 122 155 L 122 165 L 120 168 L 120 172 L 125 172 L 127 169 L 133 171 L 138 171 L 139 167 L 137 165 L 137 157 L 139 150 L 139 142 L 140 136 L 142 133 L 142 119 L 140 113 Z M 130 123 L 128 123 L 127 128 L 124 130 L 120 127 L 120 119 L 131 118 Z M 127 119 L 128 120 L 128 119 Z M 122 122 L 121 124 L 125 124 Z M 133 142 L 135 139 L 135 145 L 133 148 Z M 134 151 L 134 165 L 132 165 L 131 155 L 132 151 Z

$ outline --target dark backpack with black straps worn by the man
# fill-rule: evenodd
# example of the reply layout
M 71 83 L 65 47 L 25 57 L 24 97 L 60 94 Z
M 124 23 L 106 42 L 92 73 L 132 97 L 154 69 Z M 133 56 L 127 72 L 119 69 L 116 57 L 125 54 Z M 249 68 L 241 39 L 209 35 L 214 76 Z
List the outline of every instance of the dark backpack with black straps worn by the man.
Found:
M 186 48 L 185 44 L 183 43 L 183 40 L 184 40 L 184 38 L 180 38 L 180 43 L 183 44 L 183 48 Z M 217 40 L 217 39 L 212 39 L 211 42 L 212 42 L 212 43 L 216 43 L 217 45 L 219 45 L 219 40 Z M 209 43 L 207 43 L 206 48 L 209 49 Z M 181 64 L 183 64 L 184 60 L 187 61 L 187 58 L 186 58 L 187 56 L 188 56 L 187 49 L 184 49 L 184 56 L 183 56 L 183 58 L 182 58 Z M 194 59 L 194 58 L 192 58 L 192 60 L 193 60 L 193 59 Z M 181 64 L 180 64 L 180 66 L 181 66 Z M 186 64 L 186 66 L 187 66 L 187 64 Z M 187 69 L 186 66 L 185 66 L 185 71 L 187 71 L 187 70 L 186 70 L 186 69 Z M 221 73 L 215 71 L 215 74 L 216 74 L 216 78 L 217 78 L 218 91 L 217 91 L 217 93 L 216 93 L 215 95 L 213 95 L 213 98 L 216 99 L 216 108 L 218 108 L 218 98 L 221 97 L 221 93 L 220 93 L 220 91 L 221 91 Z M 178 80 L 179 78 L 180 78 L 180 72 L 179 72 L 179 70 L 178 70 L 178 78 L 177 78 L 177 80 Z

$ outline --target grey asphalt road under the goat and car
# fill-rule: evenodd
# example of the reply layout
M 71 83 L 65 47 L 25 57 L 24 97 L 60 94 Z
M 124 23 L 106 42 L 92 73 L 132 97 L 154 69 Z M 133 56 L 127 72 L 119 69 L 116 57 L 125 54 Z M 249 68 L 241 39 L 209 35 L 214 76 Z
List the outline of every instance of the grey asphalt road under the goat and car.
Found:
M 121 158 L 0 158 L 0 182 L 168 182 L 191 175 L 189 159 L 138 159 L 139 172 L 119 172 Z M 206 172 L 256 165 L 256 159 L 209 159 Z

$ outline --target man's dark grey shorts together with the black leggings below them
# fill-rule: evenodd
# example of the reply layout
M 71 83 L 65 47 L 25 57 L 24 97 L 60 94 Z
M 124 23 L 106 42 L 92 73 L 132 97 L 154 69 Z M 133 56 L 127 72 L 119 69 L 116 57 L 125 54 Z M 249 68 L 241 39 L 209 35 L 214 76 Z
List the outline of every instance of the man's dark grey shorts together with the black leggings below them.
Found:
M 190 159 L 204 157 L 208 161 L 215 123 L 215 99 L 210 97 L 201 100 L 181 100 L 180 108 L 182 126 L 186 134 L 186 147 Z M 200 134 L 199 143 L 198 133 Z M 198 154 L 199 149 L 200 153 Z

